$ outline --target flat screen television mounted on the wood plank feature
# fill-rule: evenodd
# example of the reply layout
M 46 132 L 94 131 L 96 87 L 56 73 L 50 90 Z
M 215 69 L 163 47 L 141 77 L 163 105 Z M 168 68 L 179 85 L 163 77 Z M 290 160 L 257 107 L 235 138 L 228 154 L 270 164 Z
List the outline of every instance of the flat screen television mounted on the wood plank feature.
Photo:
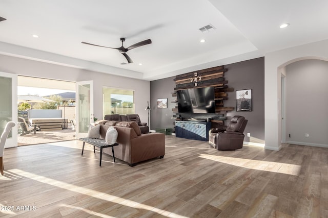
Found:
M 179 113 L 215 113 L 214 87 L 177 90 Z

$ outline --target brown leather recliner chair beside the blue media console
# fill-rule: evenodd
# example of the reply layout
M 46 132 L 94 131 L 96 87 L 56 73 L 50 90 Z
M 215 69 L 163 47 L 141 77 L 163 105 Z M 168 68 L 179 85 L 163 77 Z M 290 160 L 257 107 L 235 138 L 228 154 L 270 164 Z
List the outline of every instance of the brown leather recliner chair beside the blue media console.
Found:
M 226 130 L 210 130 L 209 143 L 217 150 L 222 151 L 241 149 L 247 122 L 248 120 L 243 116 L 232 117 Z

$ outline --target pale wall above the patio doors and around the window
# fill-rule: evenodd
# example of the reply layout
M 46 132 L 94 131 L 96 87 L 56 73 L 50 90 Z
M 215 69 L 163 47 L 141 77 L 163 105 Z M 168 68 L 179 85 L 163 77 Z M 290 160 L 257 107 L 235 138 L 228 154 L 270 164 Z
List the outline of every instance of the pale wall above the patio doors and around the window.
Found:
M 119 71 L 118 68 L 117 70 Z M 94 115 L 99 119 L 103 118 L 103 86 L 132 89 L 135 91 L 135 113 L 139 114 L 141 121 L 146 122 L 148 119 L 148 114 L 145 108 L 147 107 L 147 101 L 150 101 L 149 81 L 120 77 L 85 69 L 60 66 L 6 55 L 0 55 L 0 71 L 22 76 L 72 82 L 93 80 Z

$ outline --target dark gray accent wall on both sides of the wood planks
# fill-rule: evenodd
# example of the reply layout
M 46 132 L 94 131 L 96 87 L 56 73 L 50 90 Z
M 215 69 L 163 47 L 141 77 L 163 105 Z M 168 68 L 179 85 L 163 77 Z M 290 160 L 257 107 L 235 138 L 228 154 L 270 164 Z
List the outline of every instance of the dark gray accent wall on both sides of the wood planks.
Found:
M 248 61 L 224 65 L 228 71 L 224 78 L 228 80 L 228 86 L 234 88 L 228 92 L 228 100 L 224 102 L 225 107 L 234 107 L 234 111 L 228 112 L 228 118 L 234 115 L 245 116 L 249 120 L 245 129 L 244 141 L 264 144 L 264 57 Z M 174 127 L 172 108 L 176 106 L 175 97 L 172 92 L 175 88 L 175 77 L 150 82 L 151 99 L 151 129 L 158 127 Z M 252 89 L 253 111 L 236 111 L 236 90 Z M 160 98 L 168 98 L 168 108 L 156 108 L 156 101 Z M 226 122 L 228 123 L 229 120 Z M 251 137 L 247 137 L 247 133 Z

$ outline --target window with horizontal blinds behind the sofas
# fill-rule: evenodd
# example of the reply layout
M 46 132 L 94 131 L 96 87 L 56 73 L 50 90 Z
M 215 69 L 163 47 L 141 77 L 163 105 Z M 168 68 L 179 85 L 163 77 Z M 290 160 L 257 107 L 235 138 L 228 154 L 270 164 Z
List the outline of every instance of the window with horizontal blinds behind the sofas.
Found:
M 134 114 L 134 91 L 103 88 L 103 111 L 106 114 Z

